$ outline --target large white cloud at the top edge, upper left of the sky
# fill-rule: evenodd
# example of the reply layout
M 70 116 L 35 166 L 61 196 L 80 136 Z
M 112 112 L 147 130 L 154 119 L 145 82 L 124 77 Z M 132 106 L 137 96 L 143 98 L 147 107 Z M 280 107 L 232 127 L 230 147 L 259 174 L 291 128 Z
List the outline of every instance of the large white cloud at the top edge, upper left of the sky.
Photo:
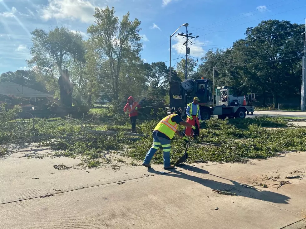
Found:
M 70 19 L 85 23 L 94 20 L 95 6 L 88 0 L 48 0 L 48 2 L 49 4 L 41 11 L 45 20 Z

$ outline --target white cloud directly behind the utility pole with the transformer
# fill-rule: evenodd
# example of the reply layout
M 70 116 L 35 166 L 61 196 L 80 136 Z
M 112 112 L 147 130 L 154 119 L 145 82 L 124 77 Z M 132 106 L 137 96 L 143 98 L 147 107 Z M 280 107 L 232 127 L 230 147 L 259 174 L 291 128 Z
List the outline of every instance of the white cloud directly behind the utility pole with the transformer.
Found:
M 185 37 L 177 36 L 173 40 L 176 41 L 176 43 L 172 45 L 172 49 L 176 51 L 177 55 L 180 55 L 179 57 L 182 57 L 186 53 L 186 46 L 183 45 L 183 43 L 185 42 Z M 192 39 L 191 41 L 194 44 L 188 45 L 188 47 L 190 48 L 190 56 L 199 58 L 203 57 L 205 55 L 205 50 L 203 47 L 203 45 L 205 45 L 204 42 L 200 42 L 198 41 L 198 39 Z

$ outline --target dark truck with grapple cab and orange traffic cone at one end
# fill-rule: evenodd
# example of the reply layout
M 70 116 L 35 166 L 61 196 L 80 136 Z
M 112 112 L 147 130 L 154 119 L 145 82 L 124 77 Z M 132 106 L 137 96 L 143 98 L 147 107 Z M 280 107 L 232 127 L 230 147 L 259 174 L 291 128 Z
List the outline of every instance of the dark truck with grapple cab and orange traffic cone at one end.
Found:
M 254 94 L 237 96 L 236 89 L 230 86 L 217 87 L 215 96 L 211 93 L 211 81 L 209 79 L 187 79 L 183 82 L 170 81 L 170 105 L 168 114 L 181 111 L 186 117 L 188 103 L 193 102 L 194 97 L 199 97 L 200 115 L 202 120 L 208 120 L 212 115 L 218 118 L 245 118 L 246 113 L 253 115 Z M 203 86 L 203 87 L 202 87 Z M 201 90 L 200 90 L 201 89 Z M 244 99 L 246 100 L 244 103 Z

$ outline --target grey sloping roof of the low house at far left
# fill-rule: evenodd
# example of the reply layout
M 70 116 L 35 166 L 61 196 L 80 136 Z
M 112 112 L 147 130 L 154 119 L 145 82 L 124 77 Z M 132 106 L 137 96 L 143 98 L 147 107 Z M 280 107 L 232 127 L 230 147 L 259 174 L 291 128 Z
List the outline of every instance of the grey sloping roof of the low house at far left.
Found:
M 13 95 L 16 97 L 53 97 L 53 95 L 43 93 L 9 81 L 0 83 L 0 94 Z

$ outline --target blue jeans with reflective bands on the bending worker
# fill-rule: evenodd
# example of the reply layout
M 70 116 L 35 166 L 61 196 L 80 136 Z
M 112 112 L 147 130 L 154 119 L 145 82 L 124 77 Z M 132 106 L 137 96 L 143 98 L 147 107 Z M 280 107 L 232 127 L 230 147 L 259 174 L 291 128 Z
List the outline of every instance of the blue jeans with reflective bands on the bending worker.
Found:
M 150 160 L 156 153 L 156 151 L 161 146 L 164 150 L 164 166 L 170 166 L 170 150 L 171 150 L 171 144 L 170 140 L 158 136 L 153 136 L 153 146 L 151 149 L 147 152 L 146 158 L 143 161 L 144 164 L 150 164 Z

